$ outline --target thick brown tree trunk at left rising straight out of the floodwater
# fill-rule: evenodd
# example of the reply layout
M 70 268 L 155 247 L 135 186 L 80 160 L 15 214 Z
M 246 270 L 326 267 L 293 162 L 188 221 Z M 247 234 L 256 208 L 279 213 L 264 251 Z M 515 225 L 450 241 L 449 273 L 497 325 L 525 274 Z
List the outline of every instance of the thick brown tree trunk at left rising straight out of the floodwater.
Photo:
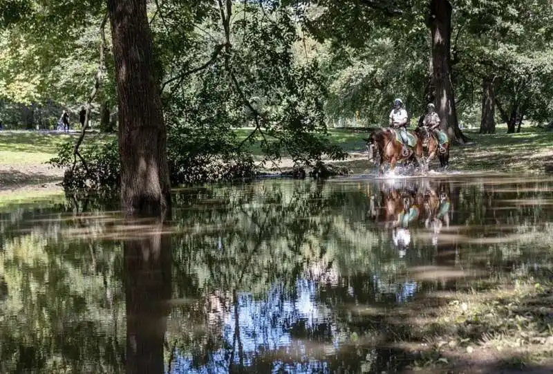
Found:
M 147 0 L 108 0 L 119 104 L 121 203 L 158 215 L 171 204 L 167 131 L 153 73 Z

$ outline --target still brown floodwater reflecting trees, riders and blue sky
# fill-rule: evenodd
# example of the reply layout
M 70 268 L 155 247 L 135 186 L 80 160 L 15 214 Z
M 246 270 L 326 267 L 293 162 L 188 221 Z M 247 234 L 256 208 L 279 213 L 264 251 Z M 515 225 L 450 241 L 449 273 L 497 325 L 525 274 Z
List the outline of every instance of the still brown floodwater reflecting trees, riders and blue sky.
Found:
M 262 180 L 178 191 L 165 223 L 1 208 L 0 372 L 400 372 L 436 292 L 550 277 L 552 187 Z

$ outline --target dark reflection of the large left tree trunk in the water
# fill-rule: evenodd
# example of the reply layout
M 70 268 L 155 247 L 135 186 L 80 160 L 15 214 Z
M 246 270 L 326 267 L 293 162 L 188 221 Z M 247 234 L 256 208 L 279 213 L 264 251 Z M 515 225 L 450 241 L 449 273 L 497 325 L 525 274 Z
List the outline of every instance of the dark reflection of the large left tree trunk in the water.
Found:
M 160 221 L 141 228 L 123 243 L 126 374 L 162 374 L 171 298 L 171 236 L 162 234 Z

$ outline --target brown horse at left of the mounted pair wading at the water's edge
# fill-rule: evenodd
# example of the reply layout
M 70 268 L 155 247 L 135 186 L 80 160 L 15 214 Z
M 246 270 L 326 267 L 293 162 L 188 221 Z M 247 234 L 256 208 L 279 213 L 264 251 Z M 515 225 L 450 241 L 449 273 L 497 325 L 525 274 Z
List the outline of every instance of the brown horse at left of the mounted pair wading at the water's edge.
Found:
M 422 142 L 420 138 L 408 131 L 414 136 L 415 147 L 409 149 L 409 153 L 404 156 L 403 144 L 397 140 L 395 131 L 389 128 L 379 127 L 371 131 L 368 138 L 365 139 L 368 150 L 368 160 L 377 162 L 379 174 L 384 174 L 384 162 L 388 162 L 391 166 L 391 171 L 395 170 L 397 162 L 414 162 L 415 166 L 421 164 L 422 161 Z

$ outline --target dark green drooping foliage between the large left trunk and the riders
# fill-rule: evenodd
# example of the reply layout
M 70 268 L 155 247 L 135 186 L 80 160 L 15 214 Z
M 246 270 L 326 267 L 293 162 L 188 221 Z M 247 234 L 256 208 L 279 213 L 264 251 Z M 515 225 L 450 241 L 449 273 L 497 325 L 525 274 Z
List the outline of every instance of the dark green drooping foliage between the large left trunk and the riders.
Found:
M 178 13 L 171 20 L 174 29 L 164 31 L 174 37 L 185 30 L 176 39 L 188 40 L 190 48 L 187 61 L 183 63 L 180 56 L 166 68 L 171 71 L 165 85 L 166 118 L 171 129 L 179 129 L 180 141 L 187 143 L 179 149 L 185 151 L 181 157 L 240 154 L 243 144 L 231 129 L 250 125 L 254 128 L 249 139 L 261 138 L 267 160 L 278 160 L 284 153 L 297 165 L 311 165 L 325 154 L 343 158 L 344 153 L 324 136 L 326 82 L 317 61 L 300 64 L 294 56 L 299 37 L 290 12 L 238 3 L 234 8 L 239 17 L 229 30 L 232 48 L 214 46 L 209 36 L 190 36 L 182 24 L 186 18 L 178 23 Z M 203 28 L 216 35 L 222 26 L 218 10 L 214 12 L 214 21 L 206 20 Z M 163 35 L 160 43 L 169 43 Z M 223 56 L 206 53 L 221 48 Z M 193 62 L 210 59 L 205 70 L 187 75 Z

